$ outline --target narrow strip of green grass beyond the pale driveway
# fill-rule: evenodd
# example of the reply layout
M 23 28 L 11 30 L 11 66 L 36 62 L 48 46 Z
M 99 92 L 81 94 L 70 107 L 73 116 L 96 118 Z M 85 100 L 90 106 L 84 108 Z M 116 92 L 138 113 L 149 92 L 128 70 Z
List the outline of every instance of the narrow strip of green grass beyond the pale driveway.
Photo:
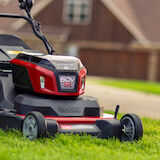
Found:
M 160 83 L 156 82 L 114 79 L 114 78 L 92 78 L 92 77 L 89 77 L 88 81 L 91 83 L 97 83 L 104 86 L 130 89 L 135 91 L 141 91 L 144 93 L 160 94 Z

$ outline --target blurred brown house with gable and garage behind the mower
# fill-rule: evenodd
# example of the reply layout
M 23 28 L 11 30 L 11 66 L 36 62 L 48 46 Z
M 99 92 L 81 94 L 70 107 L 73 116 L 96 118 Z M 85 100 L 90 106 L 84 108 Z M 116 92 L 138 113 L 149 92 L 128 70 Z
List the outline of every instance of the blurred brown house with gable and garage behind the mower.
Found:
M 0 0 L 1 13 L 23 14 L 18 0 Z M 160 81 L 159 0 L 35 0 L 32 15 L 59 54 L 81 58 L 89 75 Z M 24 20 L 0 20 L 45 51 Z

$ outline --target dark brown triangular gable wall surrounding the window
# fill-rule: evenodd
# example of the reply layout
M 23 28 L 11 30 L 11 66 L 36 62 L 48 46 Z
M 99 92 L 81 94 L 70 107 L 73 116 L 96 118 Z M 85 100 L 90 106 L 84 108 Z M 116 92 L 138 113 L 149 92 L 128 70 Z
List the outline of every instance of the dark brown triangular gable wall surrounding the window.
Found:
M 89 25 L 66 25 L 62 20 L 63 0 L 54 0 L 35 18 L 42 25 L 70 30 L 69 40 L 96 40 L 129 43 L 134 38 L 100 0 L 93 0 Z

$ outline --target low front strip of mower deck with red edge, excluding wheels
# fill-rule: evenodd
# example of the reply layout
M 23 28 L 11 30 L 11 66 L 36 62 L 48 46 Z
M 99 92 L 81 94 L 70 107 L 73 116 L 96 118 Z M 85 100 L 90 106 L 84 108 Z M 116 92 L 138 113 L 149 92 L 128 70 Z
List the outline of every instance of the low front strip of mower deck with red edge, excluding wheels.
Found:
M 3 130 L 22 130 L 26 115 L 19 115 L 10 110 L 1 111 L 0 123 Z M 46 133 L 89 134 L 99 138 L 121 137 L 122 125 L 112 115 L 103 117 L 51 117 L 44 116 Z M 32 124 L 32 121 L 29 121 Z

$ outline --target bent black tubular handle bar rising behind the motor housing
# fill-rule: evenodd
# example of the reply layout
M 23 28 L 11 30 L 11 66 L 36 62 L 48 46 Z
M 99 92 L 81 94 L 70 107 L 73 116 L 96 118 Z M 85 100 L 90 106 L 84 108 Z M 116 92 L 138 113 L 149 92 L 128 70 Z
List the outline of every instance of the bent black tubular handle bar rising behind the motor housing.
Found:
M 27 17 L 27 16 L 24 16 L 24 15 L 18 15 L 18 14 L 0 14 L 0 18 L 19 18 L 19 19 L 25 19 L 26 21 L 28 21 L 31 24 L 32 30 L 33 30 L 34 34 L 39 39 L 41 39 L 43 41 L 48 54 L 52 55 L 55 52 L 55 50 L 49 44 L 48 40 L 42 34 L 42 32 L 40 30 L 40 23 L 35 22 L 35 20 L 32 19 L 30 15 L 28 15 L 28 17 Z

